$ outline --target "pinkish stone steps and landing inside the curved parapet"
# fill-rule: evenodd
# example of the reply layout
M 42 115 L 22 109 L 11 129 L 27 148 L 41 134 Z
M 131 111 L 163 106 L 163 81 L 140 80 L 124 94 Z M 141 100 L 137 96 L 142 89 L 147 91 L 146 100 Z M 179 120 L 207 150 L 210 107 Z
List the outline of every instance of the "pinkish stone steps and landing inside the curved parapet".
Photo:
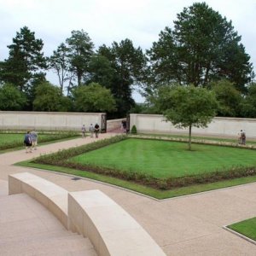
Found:
M 0 209 L 1 256 L 96 256 L 88 238 L 67 231 L 29 195 L 2 195 Z

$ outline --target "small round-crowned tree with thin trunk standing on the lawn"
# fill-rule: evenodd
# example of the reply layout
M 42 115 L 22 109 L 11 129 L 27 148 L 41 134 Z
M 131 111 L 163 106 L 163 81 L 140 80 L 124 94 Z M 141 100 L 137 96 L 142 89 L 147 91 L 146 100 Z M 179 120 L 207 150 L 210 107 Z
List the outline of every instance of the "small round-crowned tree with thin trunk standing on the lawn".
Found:
M 214 92 L 189 86 L 163 86 L 156 103 L 166 120 L 177 128 L 189 127 L 189 150 L 191 150 L 192 126 L 207 127 L 216 114 L 218 102 Z

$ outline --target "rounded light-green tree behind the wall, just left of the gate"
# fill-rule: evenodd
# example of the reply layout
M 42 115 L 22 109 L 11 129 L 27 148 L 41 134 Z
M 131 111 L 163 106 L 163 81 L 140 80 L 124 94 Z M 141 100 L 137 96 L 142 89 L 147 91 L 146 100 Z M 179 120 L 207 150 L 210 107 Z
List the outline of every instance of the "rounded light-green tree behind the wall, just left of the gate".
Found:
M 115 100 L 110 90 L 101 84 L 90 83 L 73 89 L 74 108 L 82 112 L 113 112 Z

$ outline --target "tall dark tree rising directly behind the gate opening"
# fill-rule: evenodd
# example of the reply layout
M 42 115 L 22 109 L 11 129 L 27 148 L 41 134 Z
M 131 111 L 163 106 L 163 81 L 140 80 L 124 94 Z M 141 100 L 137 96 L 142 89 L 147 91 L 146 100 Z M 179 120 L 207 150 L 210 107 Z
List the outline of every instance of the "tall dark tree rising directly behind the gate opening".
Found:
M 113 42 L 111 47 L 102 45 L 98 53 L 110 61 L 114 71 L 110 90 L 116 99 L 119 116 L 124 116 L 135 103 L 131 96 L 132 85 L 140 83 L 143 78 L 146 67 L 143 50 L 134 47 L 130 39 L 125 39 L 119 44 Z

